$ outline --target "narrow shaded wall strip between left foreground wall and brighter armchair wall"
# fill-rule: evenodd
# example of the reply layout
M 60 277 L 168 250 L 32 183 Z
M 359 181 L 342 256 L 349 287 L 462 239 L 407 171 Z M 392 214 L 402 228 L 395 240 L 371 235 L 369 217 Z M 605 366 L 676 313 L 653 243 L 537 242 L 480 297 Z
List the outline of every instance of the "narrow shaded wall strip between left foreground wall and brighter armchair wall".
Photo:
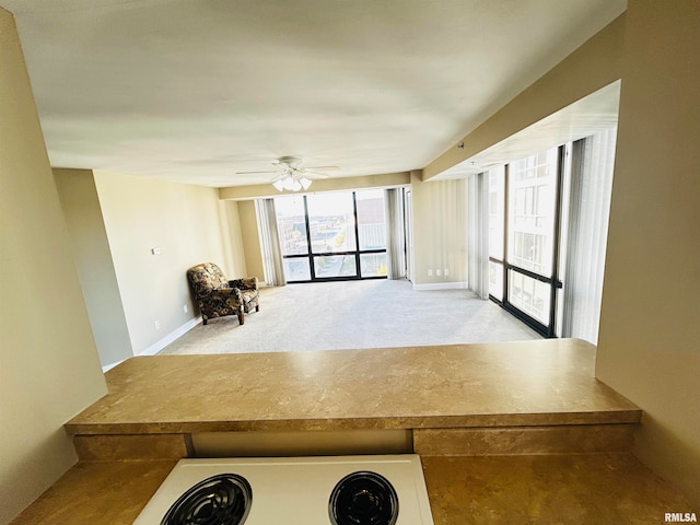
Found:
M 91 170 L 54 170 L 71 249 L 103 366 L 133 355 Z

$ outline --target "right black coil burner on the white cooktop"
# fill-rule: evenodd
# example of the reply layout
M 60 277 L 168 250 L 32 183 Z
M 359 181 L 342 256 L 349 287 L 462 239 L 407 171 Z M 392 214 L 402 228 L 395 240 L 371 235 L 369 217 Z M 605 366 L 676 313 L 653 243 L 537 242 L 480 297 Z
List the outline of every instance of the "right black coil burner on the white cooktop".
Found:
M 398 497 L 385 477 L 370 471 L 353 472 L 332 489 L 328 514 L 332 525 L 394 525 Z

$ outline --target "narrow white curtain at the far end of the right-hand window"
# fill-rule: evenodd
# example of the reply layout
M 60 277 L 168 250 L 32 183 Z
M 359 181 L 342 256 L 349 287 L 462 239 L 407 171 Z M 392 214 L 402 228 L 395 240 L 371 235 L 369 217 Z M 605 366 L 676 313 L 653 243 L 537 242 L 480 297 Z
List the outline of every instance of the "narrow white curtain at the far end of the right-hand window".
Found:
M 489 196 L 487 174 L 471 175 L 468 180 L 468 264 L 469 290 L 480 299 L 489 299 Z

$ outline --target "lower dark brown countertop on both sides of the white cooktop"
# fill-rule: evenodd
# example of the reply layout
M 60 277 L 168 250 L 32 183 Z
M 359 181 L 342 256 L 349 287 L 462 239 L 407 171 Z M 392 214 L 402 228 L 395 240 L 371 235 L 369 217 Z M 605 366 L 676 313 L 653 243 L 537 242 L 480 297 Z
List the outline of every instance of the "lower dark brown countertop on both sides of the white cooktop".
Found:
M 658 525 L 666 512 L 693 511 L 629 454 L 429 456 L 422 463 L 435 525 Z M 78 464 L 11 525 L 130 525 L 174 465 Z

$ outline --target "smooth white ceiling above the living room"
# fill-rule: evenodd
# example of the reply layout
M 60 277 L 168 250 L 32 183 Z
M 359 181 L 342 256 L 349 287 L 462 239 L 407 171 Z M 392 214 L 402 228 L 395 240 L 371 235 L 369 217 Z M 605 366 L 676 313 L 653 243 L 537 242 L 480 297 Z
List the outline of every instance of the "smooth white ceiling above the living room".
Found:
M 51 164 L 206 186 L 422 168 L 626 0 L 0 0 Z

